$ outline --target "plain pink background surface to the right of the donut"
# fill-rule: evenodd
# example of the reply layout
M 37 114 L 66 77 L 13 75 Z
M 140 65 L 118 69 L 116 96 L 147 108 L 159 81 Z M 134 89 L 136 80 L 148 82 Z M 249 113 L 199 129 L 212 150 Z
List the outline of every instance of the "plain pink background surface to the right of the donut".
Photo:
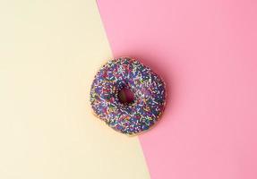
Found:
M 256 179 L 257 1 L 98 3 L 114 55 L 167 82 L 165 114 L 140 136 L 151 177 Z

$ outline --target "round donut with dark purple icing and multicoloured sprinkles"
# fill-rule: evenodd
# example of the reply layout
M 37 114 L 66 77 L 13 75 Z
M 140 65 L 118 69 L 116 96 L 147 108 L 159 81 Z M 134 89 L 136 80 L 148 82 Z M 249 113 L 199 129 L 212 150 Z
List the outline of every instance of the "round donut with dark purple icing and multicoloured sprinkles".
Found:
M 133 101 L 119 98 L 130 90 Z M 166 102 L 164 81 L 149 67 L 131 57 L 113 59 L 96 74 L 90 89 L 90 105 L 108 126 L 127 135 L 149 130 L 163 114 Z

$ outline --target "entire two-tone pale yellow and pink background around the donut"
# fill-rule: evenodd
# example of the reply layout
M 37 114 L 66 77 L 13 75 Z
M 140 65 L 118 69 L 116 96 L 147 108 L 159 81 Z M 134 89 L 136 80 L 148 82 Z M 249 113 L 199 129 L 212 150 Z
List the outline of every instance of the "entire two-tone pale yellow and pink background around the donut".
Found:
M 252 0 L 0 1 L 0 178 L 256 179 L 256 47 Z M 119 55 L 167 83 L 139 137 L 90 109 Z

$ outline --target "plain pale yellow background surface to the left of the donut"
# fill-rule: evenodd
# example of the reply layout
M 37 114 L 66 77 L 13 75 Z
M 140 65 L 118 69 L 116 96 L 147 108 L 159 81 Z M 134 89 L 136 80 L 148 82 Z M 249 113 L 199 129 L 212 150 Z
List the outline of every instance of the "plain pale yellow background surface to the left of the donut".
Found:
M 137 137 L 91 114 L 111 51 L 93 0 L 0 1 L 0 178 L 149 178 Z

